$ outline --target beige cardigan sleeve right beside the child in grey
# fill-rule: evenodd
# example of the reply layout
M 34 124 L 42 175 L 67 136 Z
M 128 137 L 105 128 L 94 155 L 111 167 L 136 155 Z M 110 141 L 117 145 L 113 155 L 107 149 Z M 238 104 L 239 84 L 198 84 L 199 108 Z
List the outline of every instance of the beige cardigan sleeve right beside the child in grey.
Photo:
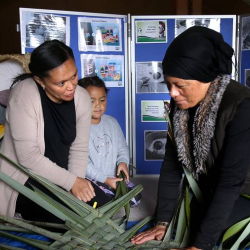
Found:
M 92 104 L 87 93 L 82 91 L 80 93 L 79 103 L 76 107 L 76 138 L 70 147 L 68 166 L 70 172 L 85 178 L 89 155 Z

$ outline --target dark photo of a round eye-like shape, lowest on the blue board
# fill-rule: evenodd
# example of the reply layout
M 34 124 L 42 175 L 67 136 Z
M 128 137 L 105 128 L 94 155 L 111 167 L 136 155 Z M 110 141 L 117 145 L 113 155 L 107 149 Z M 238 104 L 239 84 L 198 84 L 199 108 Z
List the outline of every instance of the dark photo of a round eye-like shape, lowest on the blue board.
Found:
M 167 143 L 167 131 L 145 130 L 144 131 L 145 161 L 163 160 L 165 156 L 166 143 Z

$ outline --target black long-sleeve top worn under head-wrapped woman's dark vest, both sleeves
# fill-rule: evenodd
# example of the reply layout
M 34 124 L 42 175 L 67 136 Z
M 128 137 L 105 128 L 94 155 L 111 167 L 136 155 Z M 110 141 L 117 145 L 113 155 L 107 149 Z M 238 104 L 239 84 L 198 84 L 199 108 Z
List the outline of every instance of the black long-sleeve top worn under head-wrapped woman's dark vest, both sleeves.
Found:
M 191 121 L 194 113 L 194 110 L 190 109 Z M 233 120 L 226 127 L 226 136 L 220 158 L 219 166 L 209 169 L 208 175 L 201 175 L 198 181 L 207 208 L 192 244 L 206 250 L 214 247 L 222 233 L 235 200 L 239 197 L 250 166 L 249 99 L 245 99 L 238 106 Z M 176 149 L 168 138 L 159 179 L 157 221 L 171 220 L 178 198 L 182 173 L 183 169 L 178 161 Z

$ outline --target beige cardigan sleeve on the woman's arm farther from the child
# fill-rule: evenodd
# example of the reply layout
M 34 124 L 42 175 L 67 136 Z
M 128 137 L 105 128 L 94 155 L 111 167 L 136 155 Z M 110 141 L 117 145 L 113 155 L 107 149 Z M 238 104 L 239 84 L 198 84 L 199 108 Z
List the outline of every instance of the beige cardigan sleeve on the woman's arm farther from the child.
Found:
M 10 100 L 7 117 L 18 162 L 34 174 L 45 177 L 49 181 L 66 190 L 72 187 L 76 175 L 59 167 L 41 152 L 38 131 L 39 112 L 34 100 L 20 94 L 21 98 Z M 37 103 L 37 101 L 36 101 Z

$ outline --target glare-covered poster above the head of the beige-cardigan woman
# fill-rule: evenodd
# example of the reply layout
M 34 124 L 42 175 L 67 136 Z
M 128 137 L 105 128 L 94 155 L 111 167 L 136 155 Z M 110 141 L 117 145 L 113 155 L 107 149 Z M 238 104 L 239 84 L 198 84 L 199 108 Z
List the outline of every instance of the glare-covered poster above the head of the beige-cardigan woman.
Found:
M 24 12 L 22 16 L 24 47 L 36 48 L 45 41 L 57 39 L 70 45 L 70 19 L 66 16 Z

